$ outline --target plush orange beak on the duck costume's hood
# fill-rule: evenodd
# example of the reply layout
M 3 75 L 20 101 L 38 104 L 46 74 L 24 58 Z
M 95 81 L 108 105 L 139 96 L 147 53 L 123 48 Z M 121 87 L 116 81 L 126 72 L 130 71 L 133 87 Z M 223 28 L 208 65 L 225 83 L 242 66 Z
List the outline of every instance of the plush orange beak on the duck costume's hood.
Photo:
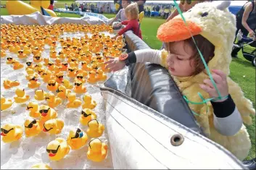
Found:
M 191 38 L 191 35 L 199 35 L 201 31 L 202 28 L 196 23 L 191 21 L 185 23 L 181 18 L 178 18 L 160 25 L 157 30 L 157 38 L 165 43 L 183 41 Z

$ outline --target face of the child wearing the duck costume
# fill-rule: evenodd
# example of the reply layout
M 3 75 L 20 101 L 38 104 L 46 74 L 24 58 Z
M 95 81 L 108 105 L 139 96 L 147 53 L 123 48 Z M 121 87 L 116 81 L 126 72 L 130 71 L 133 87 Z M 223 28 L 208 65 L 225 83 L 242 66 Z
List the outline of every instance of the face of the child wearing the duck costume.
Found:
M 191 46 L 184 46 L 183 41 L 173 43 L 172 48 L 175 50 L 172 54 L 168 54 L 167 64 L 171 75 L 186 77 L 193 75 L 194 59 L 191 59 L 193 49 Z M 175 53 L 175 54 L 174 54 Z

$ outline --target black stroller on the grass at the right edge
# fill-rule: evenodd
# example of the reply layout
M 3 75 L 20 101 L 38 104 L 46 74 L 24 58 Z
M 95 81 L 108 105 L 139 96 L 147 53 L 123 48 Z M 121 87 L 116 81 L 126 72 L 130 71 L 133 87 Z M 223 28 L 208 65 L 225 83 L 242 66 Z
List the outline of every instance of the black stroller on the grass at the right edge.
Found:
M 247 36 L 242 35 L 241 31 L 239 31 L 236 36 L 239 41 L 242 41 L 239 44 L 234 44 L 233 48 L 241 48 L 242 54 L 245 59 L 252 62 L 252 66 L 256 66 L 256 38 L 249 38 Z

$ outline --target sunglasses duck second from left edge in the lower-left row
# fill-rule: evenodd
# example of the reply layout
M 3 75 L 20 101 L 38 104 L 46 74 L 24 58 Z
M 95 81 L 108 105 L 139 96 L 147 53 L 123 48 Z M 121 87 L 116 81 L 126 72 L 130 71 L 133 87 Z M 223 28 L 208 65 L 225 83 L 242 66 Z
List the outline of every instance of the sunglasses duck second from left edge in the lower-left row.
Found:
M 26 137 L 33 137 L 42 132 L 39 121 L 30 117 L 25 120 L 24 127 Z

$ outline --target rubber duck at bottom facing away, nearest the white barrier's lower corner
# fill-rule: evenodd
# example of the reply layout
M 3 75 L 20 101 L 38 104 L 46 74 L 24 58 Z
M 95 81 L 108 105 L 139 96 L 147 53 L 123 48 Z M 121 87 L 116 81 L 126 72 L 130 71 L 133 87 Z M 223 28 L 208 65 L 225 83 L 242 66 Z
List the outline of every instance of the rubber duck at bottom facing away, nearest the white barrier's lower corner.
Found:
M 101 162 L 107 156 L 107 144 L 102 143 L 98 138 L 92 139 L 89 143 L 87 158 L 94 162 Z

